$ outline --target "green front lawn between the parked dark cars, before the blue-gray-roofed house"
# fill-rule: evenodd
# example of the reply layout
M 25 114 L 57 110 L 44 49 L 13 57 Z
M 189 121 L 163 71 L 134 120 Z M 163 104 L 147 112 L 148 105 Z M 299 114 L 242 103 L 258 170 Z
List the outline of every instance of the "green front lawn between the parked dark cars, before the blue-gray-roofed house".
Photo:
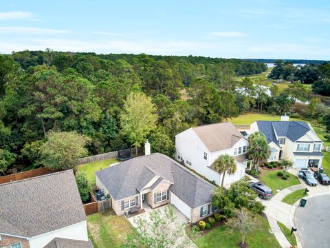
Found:
M 270 187 L 273 190 L 273 194 L 277 193 L 277 189 L 282 190 L 285 189 L 286 187 L 300 184 L 298 178 L 292 174 L 289 174 L 288 172 L 287 175 L 289 175 L 290 178 L 288 178 L 288 180 L 283 180 L 277 177 L 278 170 L 273 170 L 273 171 L 268 171 L 265 169 L 260 169 L 260 170 L 261 170 L 261 174 L 259 176 L 261 181 L 265 183 L 267 187 Z

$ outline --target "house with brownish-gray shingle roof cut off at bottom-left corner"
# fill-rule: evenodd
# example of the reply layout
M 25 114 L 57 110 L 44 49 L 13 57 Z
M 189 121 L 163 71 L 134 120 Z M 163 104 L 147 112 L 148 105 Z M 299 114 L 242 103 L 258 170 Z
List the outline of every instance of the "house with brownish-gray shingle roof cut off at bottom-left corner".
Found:
M 72 170 L 0 185 L 0 247 L 42 248 L 54 238 L 88 241 Z

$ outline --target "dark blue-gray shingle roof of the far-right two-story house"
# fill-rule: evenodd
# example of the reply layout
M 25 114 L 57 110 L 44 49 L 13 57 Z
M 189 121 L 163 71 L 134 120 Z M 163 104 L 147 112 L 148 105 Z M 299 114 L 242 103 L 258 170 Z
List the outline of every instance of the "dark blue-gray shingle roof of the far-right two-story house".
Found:
M 259 131 L 265 134 L 268 143 L 273 141 L 276 145 L 279 144 L 275 132 L 277 136 L 295 142 L 311 130 L 305 121 L 256 121 L 256 124 Z

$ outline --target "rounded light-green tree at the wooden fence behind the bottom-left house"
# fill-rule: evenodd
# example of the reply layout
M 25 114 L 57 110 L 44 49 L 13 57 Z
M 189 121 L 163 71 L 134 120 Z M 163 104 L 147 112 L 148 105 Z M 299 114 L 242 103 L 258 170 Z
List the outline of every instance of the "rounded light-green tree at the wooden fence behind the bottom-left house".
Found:
M 87 156 L 90 138 L 76 132 L 50 132 L 41 146 L 41 163 L 49 169 L 74 169 L 79 158 Z

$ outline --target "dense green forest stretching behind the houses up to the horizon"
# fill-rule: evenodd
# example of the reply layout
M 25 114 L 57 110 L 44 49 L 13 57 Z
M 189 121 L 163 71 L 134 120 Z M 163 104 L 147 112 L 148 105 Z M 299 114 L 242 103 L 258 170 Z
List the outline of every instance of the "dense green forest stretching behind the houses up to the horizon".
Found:
M 72 132 L 83 135 L 88 154 L 149 138 L 153 152 L 171 156 L 175 134 L 247 109 L 235 77 L 265 70 L 263 63 L 201 56 L 0 55 L 0 172 L 15 162 L 44 165 L 47 144 L 69 142 Z M 141 116 L 148 118 L 136 121 Z

